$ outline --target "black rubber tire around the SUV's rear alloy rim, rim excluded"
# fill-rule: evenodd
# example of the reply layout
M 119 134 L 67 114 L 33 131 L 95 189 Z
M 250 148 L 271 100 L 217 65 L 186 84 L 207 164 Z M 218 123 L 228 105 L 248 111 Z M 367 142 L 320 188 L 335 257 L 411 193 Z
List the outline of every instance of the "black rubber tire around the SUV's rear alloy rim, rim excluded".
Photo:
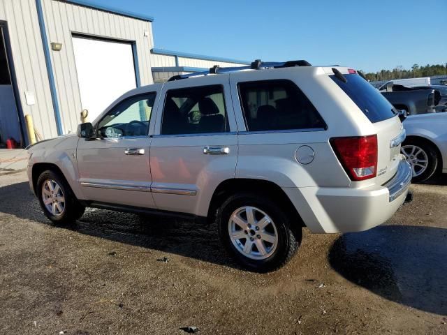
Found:
M 272 255 L 264 260 L 253 260 L 242 255 L 242 253 L 237 251 L 230 239 L 230 234 L 228 233 L 230 216 L 236 209 L 245 206 L 256 207 L 261 209 L 261 211 L 264 211 L 265 214 L 268 214 L 268 216 L 272 218 L 272 221 L 277 228 L 277 248 Z M 237 262 L 242 263 L 242 265 L 249 269 L 253 269 L 254 271 L 265 272 L 270 271 L 271 269 L 276 269 L 278 265 L 281 265 L 288 257 L 291 244 L 295 241 L 295 236 L 290 229 L 290 223 L 284 212 L 281 211 L 279 207 L 275 206 L 274 202 L 268 200 L 268 198 L 263 198 L 260 195 L 251 193 L 242 193 L 228 198 L 217 212 L 217 225 L 221 241 L 228 253 L 230 253 Z M 298 243 L 299 242 L 300 239 L 298 239 Z

